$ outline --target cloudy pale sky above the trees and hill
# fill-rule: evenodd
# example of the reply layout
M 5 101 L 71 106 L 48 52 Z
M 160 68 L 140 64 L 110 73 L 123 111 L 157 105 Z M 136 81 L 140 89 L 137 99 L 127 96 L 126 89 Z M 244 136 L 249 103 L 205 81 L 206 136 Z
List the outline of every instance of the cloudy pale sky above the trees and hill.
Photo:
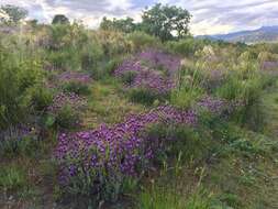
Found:
M 278 25 L 278 0 L 0 0 L 0 4 L 27 9 L 29 19 L 49 23 L 55 14 L 65 14 L 93 29 L 102 16 L 131 16 L 138 22 L 142 10 L 157 2 L 187 9 L 193 15 L 190 23 L 193 35 Z

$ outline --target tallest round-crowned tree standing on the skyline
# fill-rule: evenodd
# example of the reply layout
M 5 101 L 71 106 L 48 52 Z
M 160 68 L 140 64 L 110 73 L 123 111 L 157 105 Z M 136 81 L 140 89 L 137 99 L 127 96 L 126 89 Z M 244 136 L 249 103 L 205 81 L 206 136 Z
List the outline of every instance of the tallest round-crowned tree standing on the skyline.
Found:
M 142 29 L 162 41 L 173 40 L 175 36 L 181 38 L 189 33 L 190 19 L 191 14 L 186 9 L 157 3 L 143 12 Z

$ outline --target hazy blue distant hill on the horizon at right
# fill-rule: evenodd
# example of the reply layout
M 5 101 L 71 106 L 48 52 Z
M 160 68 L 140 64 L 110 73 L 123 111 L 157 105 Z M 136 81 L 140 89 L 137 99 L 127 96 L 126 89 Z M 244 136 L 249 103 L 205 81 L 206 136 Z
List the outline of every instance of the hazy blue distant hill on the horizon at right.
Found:
M 240 31 L 227 34 L 199 35 L 197 38 L 222 40 L 226 42 L 243 42 L 247 44 L 262 42 L 278 42 L 278 25 L 263 26 L 254 31 Z

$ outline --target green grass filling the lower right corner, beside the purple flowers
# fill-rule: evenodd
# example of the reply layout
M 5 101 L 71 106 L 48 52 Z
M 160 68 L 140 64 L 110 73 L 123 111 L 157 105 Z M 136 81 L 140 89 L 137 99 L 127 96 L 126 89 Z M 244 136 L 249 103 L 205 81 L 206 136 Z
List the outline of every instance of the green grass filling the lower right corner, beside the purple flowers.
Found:
M 216 125 L 216 129 L 210 127 L 214 131 L 211 130 L 209 134 L 203 132 L 213 136 L 207 144 L 210 154 L 203 155 L 204 158 L 198 162 L 193 155 L 191 163 L 182 164 L 180 176 L 165 173 L 154 186 L 148 185 L 138 197 L 138 208 L 276 209 L 277 88 L 266 90 L 260 100 L 267 121 L 267 129 L 263 133 L 234 123 Z M 208 141 L 208 138 L 203 140 Z M 201 182 L 199 177 L 193 177 L 198 167 L 205 167 Z M 198 183 L 201 187 L 197 186 Z

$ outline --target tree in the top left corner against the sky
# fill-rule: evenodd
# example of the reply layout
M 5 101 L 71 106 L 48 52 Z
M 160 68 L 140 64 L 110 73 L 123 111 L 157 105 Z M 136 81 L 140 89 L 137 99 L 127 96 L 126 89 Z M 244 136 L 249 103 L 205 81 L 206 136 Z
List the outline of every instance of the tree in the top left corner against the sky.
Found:
M 1 7 L 1 10 L 9 15 L 8 22 L 19 23 L 27 16 L 27 10 L 16 6 L 5 4 Z

